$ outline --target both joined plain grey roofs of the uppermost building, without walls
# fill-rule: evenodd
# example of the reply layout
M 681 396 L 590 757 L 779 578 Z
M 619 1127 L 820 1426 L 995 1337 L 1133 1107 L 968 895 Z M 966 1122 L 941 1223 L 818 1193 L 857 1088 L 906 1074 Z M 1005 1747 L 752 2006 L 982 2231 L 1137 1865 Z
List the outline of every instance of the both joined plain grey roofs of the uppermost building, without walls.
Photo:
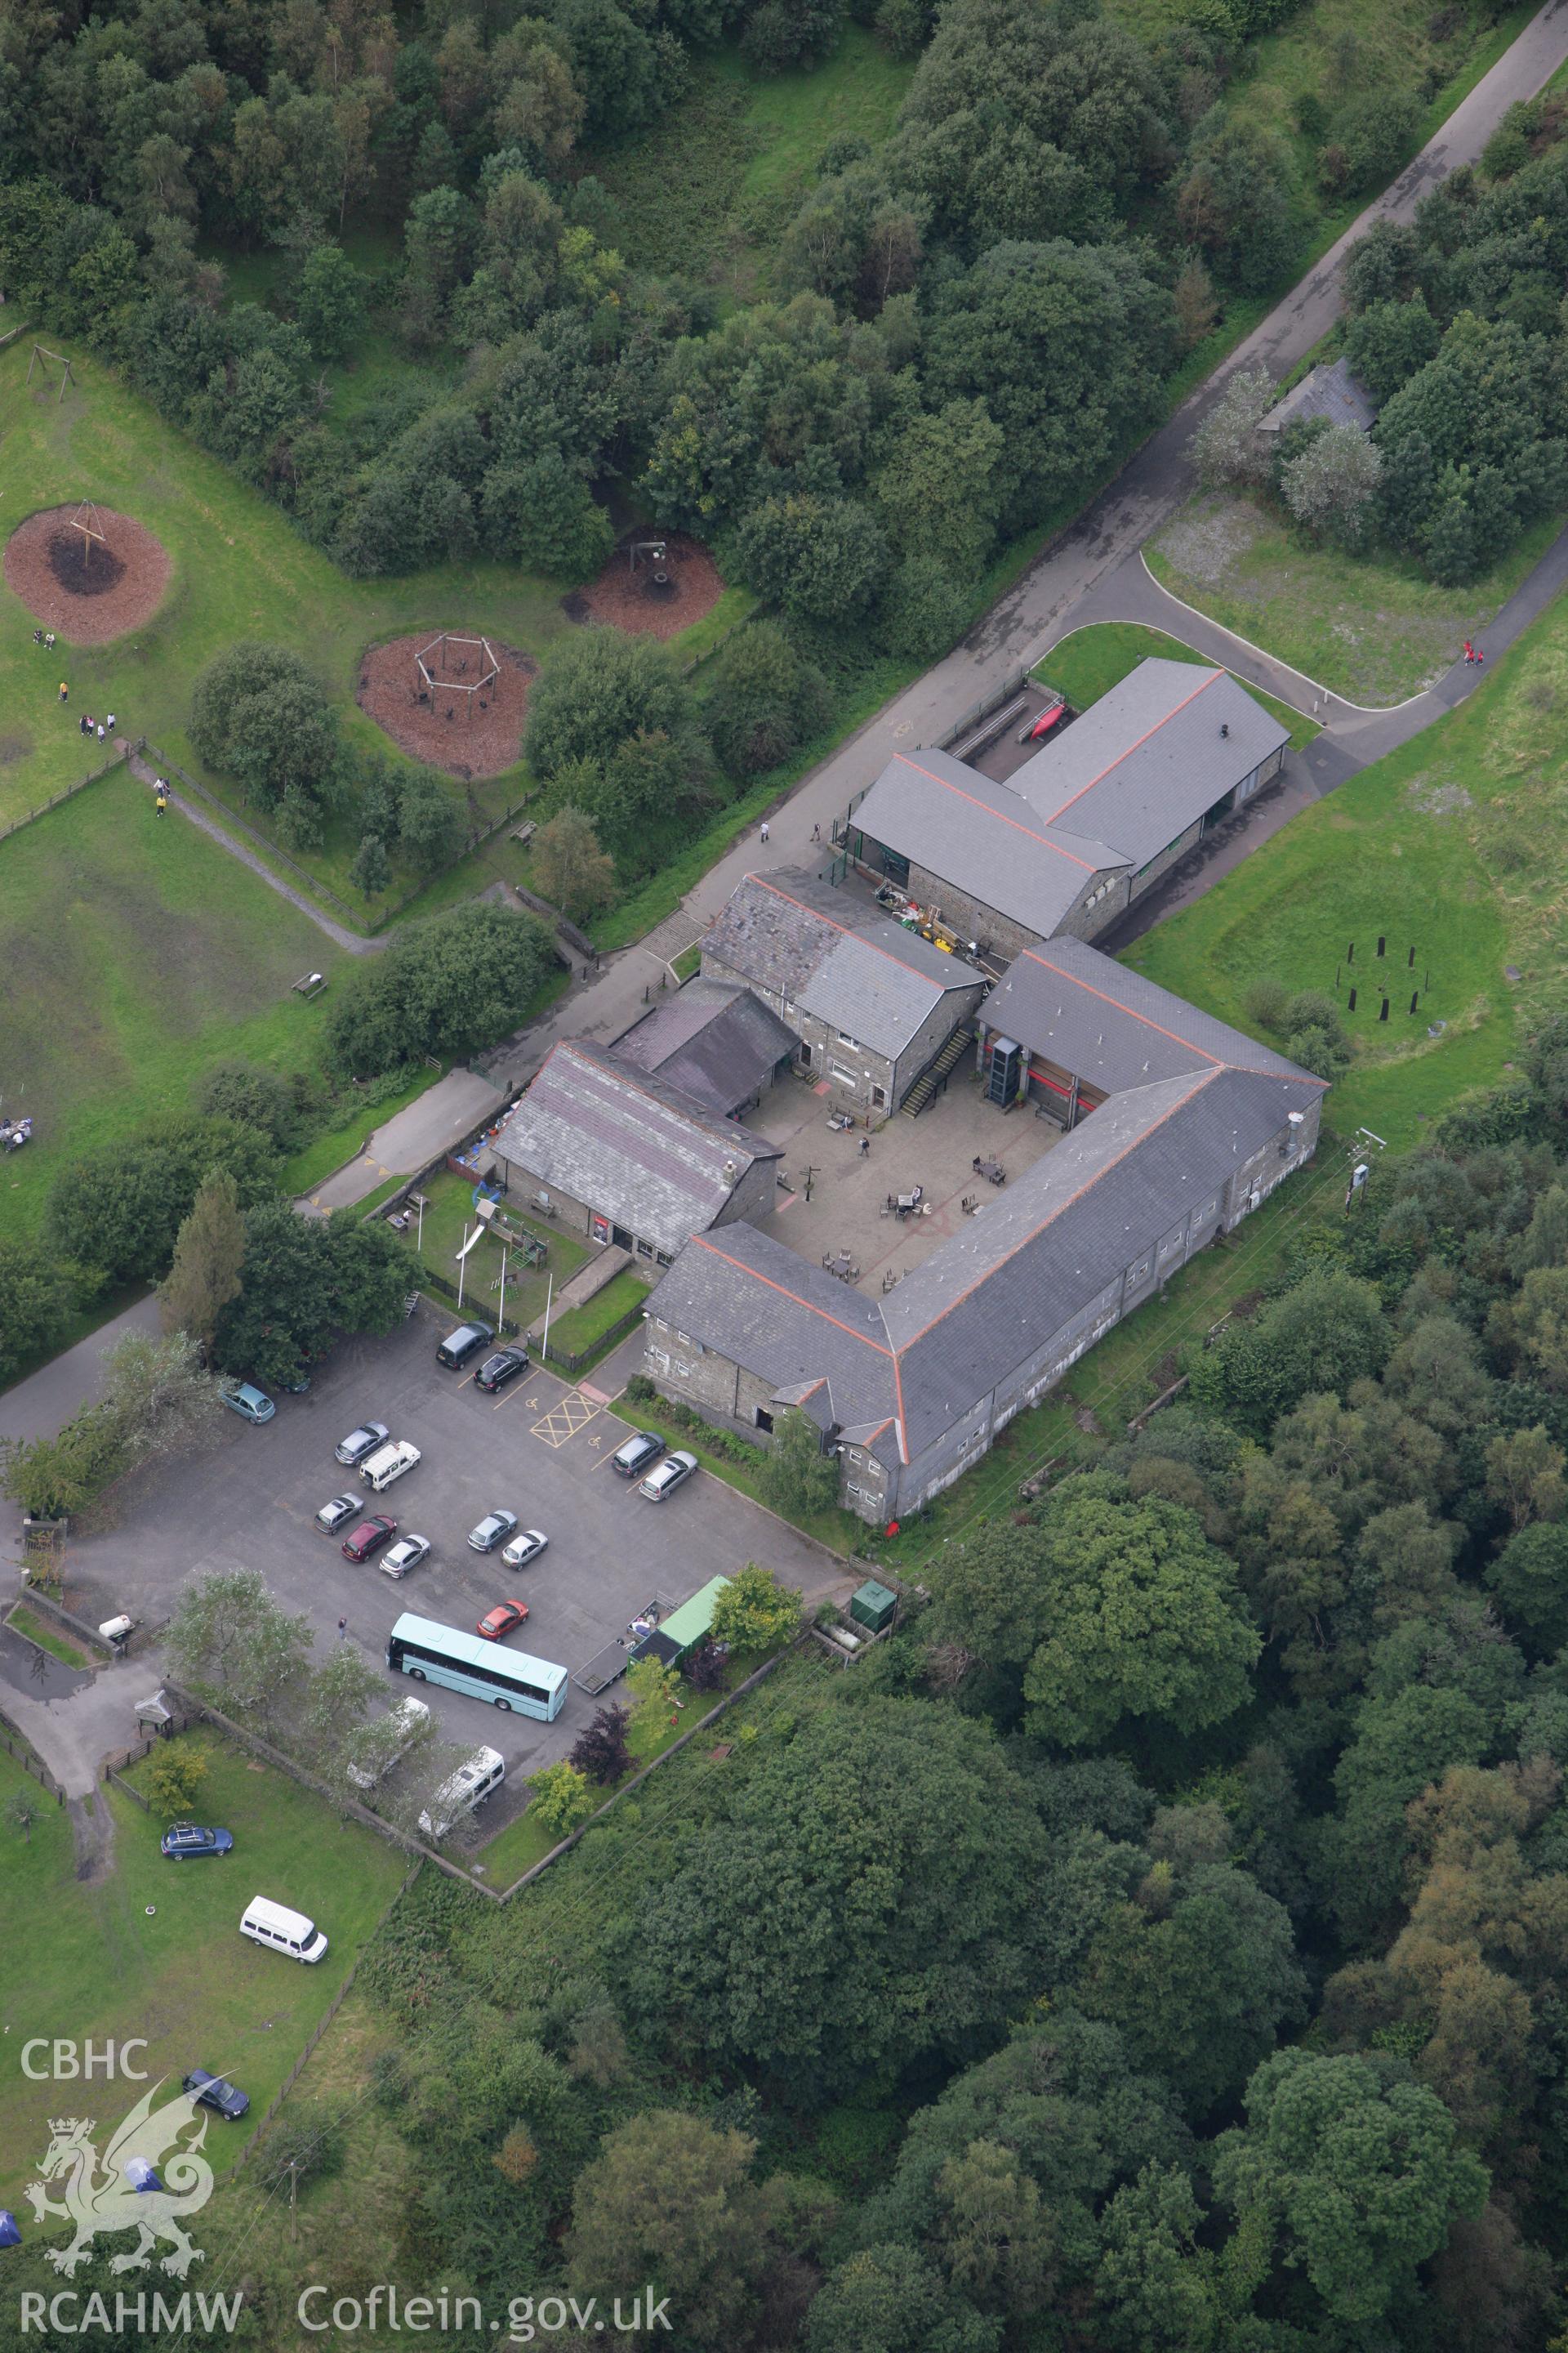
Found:
M 851 826 L 1048 939 L 1091 875 L 1147 866 L 1288 739 L 1229 671 L 1140 661 L 1006 784 L 896 753 Z

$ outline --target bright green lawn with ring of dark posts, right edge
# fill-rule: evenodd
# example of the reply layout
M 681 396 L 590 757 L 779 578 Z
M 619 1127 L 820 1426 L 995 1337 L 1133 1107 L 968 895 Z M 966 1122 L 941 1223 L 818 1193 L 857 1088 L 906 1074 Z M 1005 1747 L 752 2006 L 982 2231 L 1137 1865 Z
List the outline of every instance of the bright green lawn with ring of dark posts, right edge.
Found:
M 1128 962 L 1246 1028 L 1255 974 L 1300 988 L 1349 981 L 1356 941 L 1356 1061 L 1331 1094 L 1342 1134 L 1413 1144 L 1467 1087 L 1495 1082 L 1521 1031 L 1561 995 L 1561 873 L 1568 845 L 1568 612 L 1549 607 L 1446 720 L 1354 776 L 1262 842 L 1246 864 L 1147 939 Z M 1392 981 L 1406 953 L 1432 972 L 1418 1019 L 1394 998 L 1378 1021 L 1375 936 Z M 1512 984 L 1505 967 L 1514 965 Z M 1389 969 L 1387 965 L 1382 967 Z M 1371 1000 L 1371 1014 L 1368 1014 Z M 1427 1024 L 1446 1021 L 1441 1038 Z

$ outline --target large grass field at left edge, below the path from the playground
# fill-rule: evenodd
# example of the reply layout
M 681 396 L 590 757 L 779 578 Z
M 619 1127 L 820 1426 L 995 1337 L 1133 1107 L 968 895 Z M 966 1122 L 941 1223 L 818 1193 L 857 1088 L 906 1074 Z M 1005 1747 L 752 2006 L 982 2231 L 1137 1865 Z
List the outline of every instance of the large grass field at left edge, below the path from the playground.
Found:
M 327 1000 L 289 984 L 341 962 L 205 833 L 155 816 L 125 769 L 14 833 L 0 845 L 0 1092 L 38 1127 L 5 1160 L 0 1233 L 38 1224 L 73 1153 L 101 1158 L 186 1111 L 205 1064 L 315 1064 Z

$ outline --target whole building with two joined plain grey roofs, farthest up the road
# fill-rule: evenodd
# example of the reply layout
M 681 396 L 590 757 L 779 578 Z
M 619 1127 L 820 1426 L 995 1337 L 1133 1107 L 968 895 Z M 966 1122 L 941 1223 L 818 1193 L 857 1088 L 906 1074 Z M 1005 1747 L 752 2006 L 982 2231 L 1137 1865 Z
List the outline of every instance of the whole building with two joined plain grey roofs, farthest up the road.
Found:
M 1006 784 L 896 753 L 839 840 L 999 960 L 1095 939 L 1279 774 L 1284 727 L 1229 671 L 1140 661 Z

